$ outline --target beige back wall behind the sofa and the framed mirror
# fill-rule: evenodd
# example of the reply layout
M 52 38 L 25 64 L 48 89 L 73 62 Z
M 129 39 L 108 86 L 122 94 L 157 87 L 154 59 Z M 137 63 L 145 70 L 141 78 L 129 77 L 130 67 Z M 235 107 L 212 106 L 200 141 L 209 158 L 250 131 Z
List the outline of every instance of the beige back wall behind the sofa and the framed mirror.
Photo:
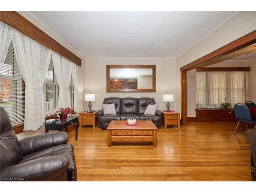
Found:
M 106 65 L 156 65 L 156 92 L 151 93 L 107 93 Z M 176 59 L 175 58 L 87 58 L 86 93 L 95 94 L 93 110 L 102 109 L 106 97 L 153 97 L 159 109 L 165 109 L 163 94 L 174 94 L 175 102 L 170 103 L 176 110 Z M 86 103 L 87 105 L 88 103 Z

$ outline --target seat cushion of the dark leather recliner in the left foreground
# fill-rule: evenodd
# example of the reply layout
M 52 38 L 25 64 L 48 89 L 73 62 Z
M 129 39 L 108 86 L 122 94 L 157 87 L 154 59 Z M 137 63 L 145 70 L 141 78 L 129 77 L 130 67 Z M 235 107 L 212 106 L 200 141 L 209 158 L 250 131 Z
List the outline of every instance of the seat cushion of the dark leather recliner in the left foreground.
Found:
M 69 165 L 69 172 L 71 173 L 71 181 L 76 181 L 76 162 L 75 162 L 75 154 L 74 154 L 74 147 L 70 143 L 51 146 L 48 148 L 45 148 L 44 150 L 31 153 L 29 155 L 26 155 L 20 159 L 19 163 L 23 163 L 26 161 L 30 161 L 33 159 L 39 159 L 54 155 L 62 155 L 69 159 L 70 165 Z

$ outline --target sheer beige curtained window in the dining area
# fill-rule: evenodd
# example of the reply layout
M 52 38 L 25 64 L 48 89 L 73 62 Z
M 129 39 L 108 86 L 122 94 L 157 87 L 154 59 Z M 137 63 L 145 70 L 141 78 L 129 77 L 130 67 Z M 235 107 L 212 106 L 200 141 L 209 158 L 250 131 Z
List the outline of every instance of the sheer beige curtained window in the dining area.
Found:
M 197 108 L 232 106 L 248 100 L 248 72 L 197 72 Z

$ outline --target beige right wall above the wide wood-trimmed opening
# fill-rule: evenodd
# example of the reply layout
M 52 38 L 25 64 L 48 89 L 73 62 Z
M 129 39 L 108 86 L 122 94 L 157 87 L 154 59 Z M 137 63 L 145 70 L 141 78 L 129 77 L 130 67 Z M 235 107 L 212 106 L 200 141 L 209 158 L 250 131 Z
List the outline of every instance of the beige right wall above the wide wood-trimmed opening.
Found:
M 180 68 L 256 29 L 256 12 L 240 11 L 177 57 L 177 109 L 180 111 Z

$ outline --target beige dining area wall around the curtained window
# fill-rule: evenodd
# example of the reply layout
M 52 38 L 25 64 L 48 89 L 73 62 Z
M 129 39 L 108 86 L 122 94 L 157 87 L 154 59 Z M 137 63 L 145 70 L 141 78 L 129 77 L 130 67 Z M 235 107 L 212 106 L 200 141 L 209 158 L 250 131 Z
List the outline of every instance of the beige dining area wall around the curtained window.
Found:
M 256 59 L 249 61 L 223 61 L 208 67 L 251 67 L 248 73 L 249 99 L 256 102 Z M 196 70 L 187 72 L 187 117 L 195 117 L 196 103 Z

